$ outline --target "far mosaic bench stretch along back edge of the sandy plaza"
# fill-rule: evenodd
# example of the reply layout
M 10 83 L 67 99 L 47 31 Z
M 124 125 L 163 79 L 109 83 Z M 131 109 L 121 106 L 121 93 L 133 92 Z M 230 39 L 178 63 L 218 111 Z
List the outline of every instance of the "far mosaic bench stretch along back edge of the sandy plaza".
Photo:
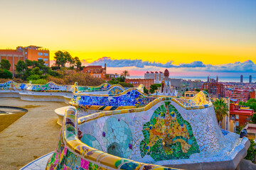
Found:
M 75 91 L 74 89 L 78 89 Z M 47 84 L 17 84 L 7 81 L 0 84 L 0 97 L 18 97 L 25 101 L 61 101 L 68 103 L 73 93 L 108 94 L 114 96 L 121 94 L 124 88 L 119 84 L 102 84 L 100 86 L 58 85 L 54 82 Z

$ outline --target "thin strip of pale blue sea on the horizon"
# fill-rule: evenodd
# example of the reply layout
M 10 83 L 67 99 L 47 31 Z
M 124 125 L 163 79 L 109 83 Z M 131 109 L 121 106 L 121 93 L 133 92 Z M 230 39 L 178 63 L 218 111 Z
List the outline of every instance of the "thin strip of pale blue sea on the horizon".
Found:
M 200 79 L 202 81 L 207 81 L 207 77 L 169 77 L 174 79 L 191 79 L 196 80 Z M 144 79 L 144 76 L 132 76 L 129 77 L 129 79 Z M 210 79 L 216 79 L 216 77 L 210 77 Z M 239 77 L 218 77 L 219 81 L 222 82 L 240 82 L 240 76 Z M 252 83 L 255 83 L 256 78 L 252 77 Z M 249 83 L 249 77 L 243 77 L 243 83 Z

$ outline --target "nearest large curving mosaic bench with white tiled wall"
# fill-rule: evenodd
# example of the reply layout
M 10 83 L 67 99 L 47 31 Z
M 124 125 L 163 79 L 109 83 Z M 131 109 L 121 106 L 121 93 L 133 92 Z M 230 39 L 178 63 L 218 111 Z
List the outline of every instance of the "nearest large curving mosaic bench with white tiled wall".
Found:
M 249 146 L 219 128 L 206 92 L 80 118 L 70 106 L 46 169 L 235 169 Z

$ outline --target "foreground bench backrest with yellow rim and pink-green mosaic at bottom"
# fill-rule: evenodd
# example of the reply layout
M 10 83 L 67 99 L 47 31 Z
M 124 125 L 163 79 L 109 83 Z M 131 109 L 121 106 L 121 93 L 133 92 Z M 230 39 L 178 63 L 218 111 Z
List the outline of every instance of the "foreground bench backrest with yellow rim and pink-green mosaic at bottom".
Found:
M 58 147 L 48 160 L 46 169 L 171 169 L 114 157 L 85 145 L 78 139 L 76 115 L 75 108 L 66 111 Z

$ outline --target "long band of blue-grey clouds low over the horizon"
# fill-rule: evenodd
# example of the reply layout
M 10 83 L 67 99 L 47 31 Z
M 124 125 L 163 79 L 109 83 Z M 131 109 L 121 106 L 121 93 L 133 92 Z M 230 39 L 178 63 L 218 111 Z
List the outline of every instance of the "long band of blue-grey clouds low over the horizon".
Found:
M 112 60 L 110 57 L 102 57 L 94 62 L 82 60 L 82 65 L 104 66 L 105 63 L 107 67 L 112 67 L 113 70 L 122 68 L 137 71 L 163 71 L 164 69 L 171 69 L 172 72 L 256 72 L 256 64 L 251 60 L 216 65 L 203 64 L 201 61 L 181 64 L 173 64 L 173 61 L 169 61 L 162 64 L 142 60 Z M 50 60 L 50 64 L 53 64 L 53 60 Z

